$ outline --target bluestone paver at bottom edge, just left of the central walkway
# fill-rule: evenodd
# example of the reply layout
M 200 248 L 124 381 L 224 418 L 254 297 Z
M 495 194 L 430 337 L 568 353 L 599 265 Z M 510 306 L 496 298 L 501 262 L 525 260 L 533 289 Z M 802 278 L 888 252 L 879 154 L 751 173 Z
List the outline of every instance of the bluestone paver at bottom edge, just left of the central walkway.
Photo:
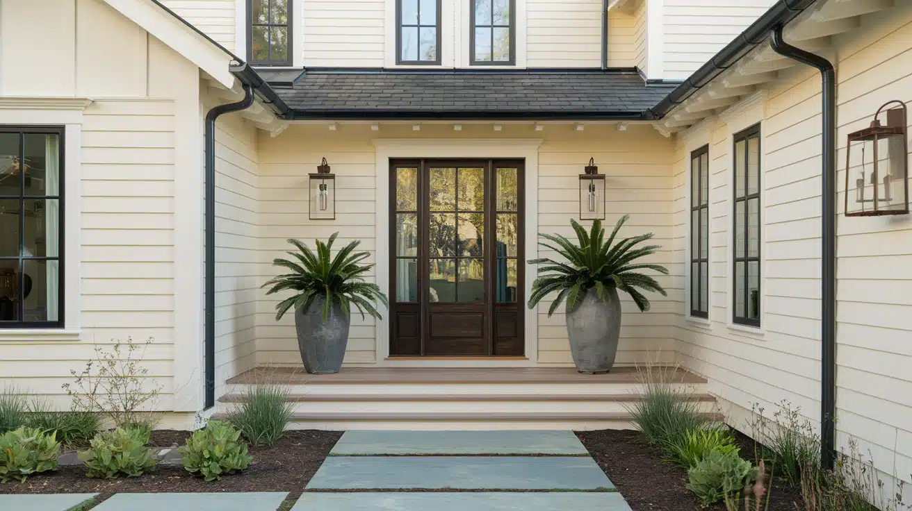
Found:
M 275 511 L 285 492 L 117 494 L 92 511 Z

